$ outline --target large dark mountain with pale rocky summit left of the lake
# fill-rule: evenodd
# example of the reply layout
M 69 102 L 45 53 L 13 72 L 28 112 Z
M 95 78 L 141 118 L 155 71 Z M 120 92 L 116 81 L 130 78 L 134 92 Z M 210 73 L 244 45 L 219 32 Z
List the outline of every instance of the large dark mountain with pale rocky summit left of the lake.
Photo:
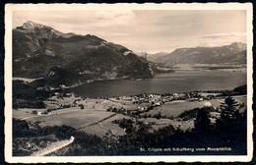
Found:
M 146 79 L 153 72 L 147 61 L 122 45 L 26 22 L 13 29 L 13 76 L 43 78 L 35 84 L 58 87 L 89 80 Z

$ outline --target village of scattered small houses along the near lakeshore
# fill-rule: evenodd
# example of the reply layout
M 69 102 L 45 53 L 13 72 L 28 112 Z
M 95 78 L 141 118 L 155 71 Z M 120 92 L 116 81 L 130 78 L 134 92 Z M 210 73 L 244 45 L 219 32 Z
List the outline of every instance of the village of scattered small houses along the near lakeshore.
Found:
M 33 110 L 32 114 L 51 115 L 52 111 L 80 107 L 81 109 L 105 109 L 111 112 L 121 112 L 127 114 L 138 114 L 141 112 L 149 112 L 156 107 L 159 107 L 168 102 L 182 102 L 182 101 L 198 101 L 206 102 L 220 97 L 221 93 L 207 93 L 207 92 L 183 92 L 183 93 L 165 93 L 165 94 L 140 94 L 135 96 L 112 96 L 112 97 L 97 97 L 88 98 L 76 96 L 74 92 L 61 93 L 55 92 L 54 95 L 48 98 L 44 103 L 46 110 Z M 206 106 L 212 106 L 211 103 L 206 103 Z

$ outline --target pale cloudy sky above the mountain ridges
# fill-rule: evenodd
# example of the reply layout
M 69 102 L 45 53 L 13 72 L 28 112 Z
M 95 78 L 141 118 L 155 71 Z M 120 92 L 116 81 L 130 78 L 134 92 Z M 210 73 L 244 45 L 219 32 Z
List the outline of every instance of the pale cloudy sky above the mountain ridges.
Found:
M 245 10 L 14 11 L 13 28 L 32 21 L 62 32 L 94 34 L 134 52 L 246 43 Z

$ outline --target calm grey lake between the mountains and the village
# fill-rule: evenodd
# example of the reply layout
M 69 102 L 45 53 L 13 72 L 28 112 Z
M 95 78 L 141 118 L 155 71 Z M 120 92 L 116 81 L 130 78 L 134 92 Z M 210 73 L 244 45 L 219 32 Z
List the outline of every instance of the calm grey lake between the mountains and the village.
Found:
M 70 88 L 85 97 L 135 95 L 141 93 L 173 93 L 193 90 L 233 89 L 246 84 L 246 73 L 221 71 L 176 71 L 154 79 L 135 81 L 101 81 Z

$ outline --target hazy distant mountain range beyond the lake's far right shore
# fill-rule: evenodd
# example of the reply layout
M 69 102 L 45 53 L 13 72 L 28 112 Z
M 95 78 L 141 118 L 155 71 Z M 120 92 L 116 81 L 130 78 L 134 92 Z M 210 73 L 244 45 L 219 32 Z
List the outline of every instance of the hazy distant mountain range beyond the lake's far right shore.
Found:
M 165 66 L 176 64 L 246 64 L 246 44 L 233 42 L 221 47 L 178 48 L 153 60 Z

